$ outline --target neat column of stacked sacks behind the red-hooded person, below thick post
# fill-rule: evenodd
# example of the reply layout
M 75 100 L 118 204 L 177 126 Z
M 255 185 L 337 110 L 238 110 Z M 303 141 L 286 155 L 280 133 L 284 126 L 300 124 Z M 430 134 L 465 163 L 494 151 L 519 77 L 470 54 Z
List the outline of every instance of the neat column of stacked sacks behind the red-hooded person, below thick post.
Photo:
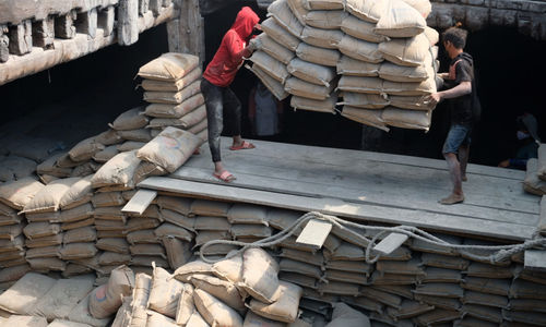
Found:
M 150 117 L 147 129 L 152 136 L 174 126 L 207 138 L 206 109 L 201 94 L 199 58 L 192 55 L 168 52 L 139 70 L 143 78 L 144 114 Z

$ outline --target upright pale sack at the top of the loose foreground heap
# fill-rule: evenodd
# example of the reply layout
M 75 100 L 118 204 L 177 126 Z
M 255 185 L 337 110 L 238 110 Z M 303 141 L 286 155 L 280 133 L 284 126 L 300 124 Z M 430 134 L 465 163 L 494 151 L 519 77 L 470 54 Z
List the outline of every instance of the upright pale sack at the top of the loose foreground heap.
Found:
M 254 299 L 273 303 L 278 287 L 278 264 L 261 249 L 248 249 L 242 254 L 241 287 Z

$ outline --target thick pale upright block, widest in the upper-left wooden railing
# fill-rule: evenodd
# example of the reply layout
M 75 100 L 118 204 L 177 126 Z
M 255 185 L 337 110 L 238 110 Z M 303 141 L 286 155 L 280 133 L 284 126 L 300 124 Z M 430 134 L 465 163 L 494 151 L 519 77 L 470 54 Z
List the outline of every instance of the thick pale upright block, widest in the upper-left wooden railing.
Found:
M 120 0 L 118 7 L 118 43 L 130 46 L 139 40 L 139 0 Z

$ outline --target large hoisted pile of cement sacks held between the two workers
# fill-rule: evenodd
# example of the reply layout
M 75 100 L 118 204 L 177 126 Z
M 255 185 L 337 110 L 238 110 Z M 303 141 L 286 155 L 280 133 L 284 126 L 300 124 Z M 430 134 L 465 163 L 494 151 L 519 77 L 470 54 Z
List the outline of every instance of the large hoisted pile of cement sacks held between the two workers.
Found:
M 276 0 L 250 69 L 295 109 L 343 105 L 360 123 L 427 131 L 438 69 L 430 10 L 428 0 Z

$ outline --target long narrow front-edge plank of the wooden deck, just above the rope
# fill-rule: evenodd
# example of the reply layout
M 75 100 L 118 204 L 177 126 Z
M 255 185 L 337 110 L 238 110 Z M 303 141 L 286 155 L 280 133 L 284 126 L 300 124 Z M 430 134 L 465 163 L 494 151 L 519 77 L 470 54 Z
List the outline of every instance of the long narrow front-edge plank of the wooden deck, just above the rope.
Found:
M 229 185 L 183 181 L 165 177 L 147 178 L 139 183 L 139 186 L 189 196 L 206 196 L 300 211 L 320 211 L 363 222 L 375 221 L 392 225 L 410 225 L 444 232 L 458 232 L 500 240 L 523 241 L 531 239 L 535 231 L 535 227 L 510 222 L 487 221 L 467 217 L 456 217 L 454 219 L 453 216 L 423 210 L 354 204 L 339 198 L 313 198 Z

